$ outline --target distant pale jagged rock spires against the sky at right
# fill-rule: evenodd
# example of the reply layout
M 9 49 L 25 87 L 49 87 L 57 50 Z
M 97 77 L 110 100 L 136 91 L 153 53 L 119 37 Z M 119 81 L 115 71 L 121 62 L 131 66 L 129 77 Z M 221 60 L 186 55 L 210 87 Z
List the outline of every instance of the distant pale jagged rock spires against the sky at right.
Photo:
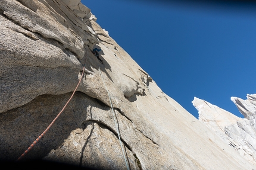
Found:
M 255 97 L 255 94 L 247 95 L 247 100 L 231 97 L 245 118 L 239 118 L 196 97 L 192 101 L 198 110 L 199 121 L 215 131 L 221 139 L 254 165 L 256 165 Z

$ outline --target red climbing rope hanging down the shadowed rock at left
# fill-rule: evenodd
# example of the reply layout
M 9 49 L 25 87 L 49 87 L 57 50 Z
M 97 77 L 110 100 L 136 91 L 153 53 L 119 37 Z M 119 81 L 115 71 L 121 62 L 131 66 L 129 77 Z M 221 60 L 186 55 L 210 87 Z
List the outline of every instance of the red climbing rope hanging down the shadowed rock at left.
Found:
M 83 73 L 85 72 L 85 67 L 83 67 Z M 74 92 L 76 92 L 80 82 L 82 81 L 82 78 L 83 78 L 83 73 L 82 73 L 82 76 L 76 86 L 76 89 L 74 89 Z M 19 161 L 21 158 L 23 158 L 31 149 L 32 147 L 34 147 L 36 145 L 36 143 L 43 137 L 43 135 L 50 129 L 50 127 L 52 126 L 52 124 L 54 124 L 54 122 L 57 120 L 57 118 L 60 116 L 61 113 L 63 113 L 63 111 L 65 110 L 65 107 L 67 107 L 67 104 L 68 102 L 70 102 L 71 98 L 73 97 L 74 95 L 74 92 L 73 94 L 71 95 L 70 99 L 67 101 L 67 103 L 64 105 L 63 109 L 60 111 L 60 113 L 54 118 L 54 120 L 52 120 L 52 123 L 49 124 L 49 126 L 45 129 L 45 131 L 43 131 L 42 134 L 40 134 L 40 136 L 38 136 L 38 138 L 27 148 L 27 150 L 25 150 L 24 153 L 22 153 L 22 155 L 17 159 L 17 161 Z

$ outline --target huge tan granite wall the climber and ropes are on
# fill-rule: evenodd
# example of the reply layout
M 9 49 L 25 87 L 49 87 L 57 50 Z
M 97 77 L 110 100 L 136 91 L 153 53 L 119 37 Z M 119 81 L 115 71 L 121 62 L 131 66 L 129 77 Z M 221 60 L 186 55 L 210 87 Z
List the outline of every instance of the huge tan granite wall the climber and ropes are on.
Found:
M 125 156 L 130 169 L 255 169 L 164 94 L 80 1 L 2 0 L 0 24 L 1 161 L 46 129 L 85 65 L 70 104 L 23 161 L 126 169 Z

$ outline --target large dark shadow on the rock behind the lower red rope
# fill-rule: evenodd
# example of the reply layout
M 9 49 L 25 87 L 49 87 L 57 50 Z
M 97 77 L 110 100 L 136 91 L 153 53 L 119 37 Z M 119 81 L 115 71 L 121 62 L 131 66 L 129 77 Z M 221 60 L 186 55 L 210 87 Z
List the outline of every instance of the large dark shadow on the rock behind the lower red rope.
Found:
M 70 96 L 71 93 L 41 95 L 22 107 L 1 113 L 0 161 L 15 161 L 60 113 Z M 21 161 L 42 159 L 61 146 L 71 131 L 83 128 L 88 105 L 96 103 L 93 98 L 76 92 L 60 117 Z M 96 104 L 96 107 L 101 105 Z

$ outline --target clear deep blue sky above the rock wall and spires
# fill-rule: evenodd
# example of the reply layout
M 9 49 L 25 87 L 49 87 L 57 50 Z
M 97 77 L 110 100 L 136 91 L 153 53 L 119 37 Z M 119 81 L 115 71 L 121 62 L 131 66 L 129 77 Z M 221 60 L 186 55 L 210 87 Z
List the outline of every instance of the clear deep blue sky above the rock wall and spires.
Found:
M 236 116 L 230 97 L 256 93 L 256 6 L 199 1 L 83 1 L 97 23 L 198 117 L 198 97 Z

